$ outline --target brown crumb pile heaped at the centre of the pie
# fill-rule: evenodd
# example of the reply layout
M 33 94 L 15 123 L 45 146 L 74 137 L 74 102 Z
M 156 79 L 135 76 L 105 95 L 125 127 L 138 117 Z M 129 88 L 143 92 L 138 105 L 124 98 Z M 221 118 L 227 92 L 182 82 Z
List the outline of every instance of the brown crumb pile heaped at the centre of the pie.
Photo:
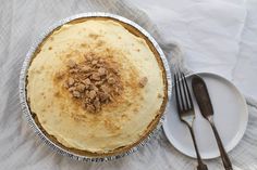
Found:
M 81 101 L 86 110 L 97 113 L 102 105 L 113 102 L 123 87 L 115 64 L 95 55 L 93 57 L 93 54 L 84 56 L 81 63 L 73 60 L 66 63 L 68 77 L 63 87 Z M 62 74 L 58 73 L 57 78 L 60 77 Z

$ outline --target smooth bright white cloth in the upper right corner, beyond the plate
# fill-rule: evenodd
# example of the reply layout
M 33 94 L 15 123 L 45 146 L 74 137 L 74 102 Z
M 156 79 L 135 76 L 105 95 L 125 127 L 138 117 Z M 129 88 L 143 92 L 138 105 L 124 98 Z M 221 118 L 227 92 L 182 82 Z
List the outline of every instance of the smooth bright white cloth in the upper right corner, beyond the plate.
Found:
M 223 75 L 257 100 L 256 0 L 133 2 L 149 15 L 168 41 L 183 47 L 191 69 Z

